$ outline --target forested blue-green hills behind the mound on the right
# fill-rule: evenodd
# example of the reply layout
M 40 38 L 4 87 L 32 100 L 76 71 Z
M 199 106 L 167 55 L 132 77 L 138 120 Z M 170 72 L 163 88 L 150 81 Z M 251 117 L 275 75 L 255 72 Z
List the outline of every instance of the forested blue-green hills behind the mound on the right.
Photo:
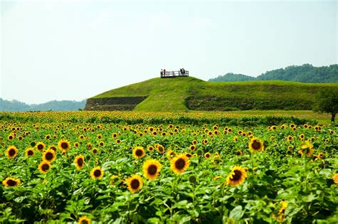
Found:
M 249 75 L 227 73 L 217 78 L 212 78 L 211 82 L 232 82 L 232 81 L 249 81 L 249 80 L 285 80 L 294 82 L 338 82 L 338 65 L 329 65 L 322 67 L 314 67 L 309 64 L 291 65 L 287 68 L 267 71 L 262 75 L 254 78 Z

